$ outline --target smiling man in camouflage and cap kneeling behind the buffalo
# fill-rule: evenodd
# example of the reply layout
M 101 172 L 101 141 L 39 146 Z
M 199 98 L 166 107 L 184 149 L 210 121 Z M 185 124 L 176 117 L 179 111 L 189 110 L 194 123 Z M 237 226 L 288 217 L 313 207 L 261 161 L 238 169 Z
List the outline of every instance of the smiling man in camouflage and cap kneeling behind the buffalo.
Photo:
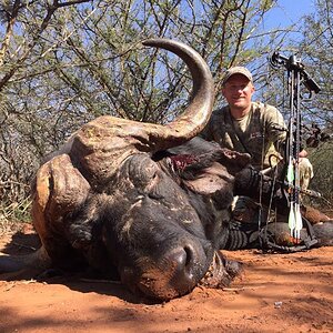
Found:
M 228 105 L 212 113 L 201 137 L 218 142 L 222 148 L 249 153 L 254 170 L 269 171 L 266 174 L 273 176 L 273 167 L 283 160 L 287 130 L 276 108 L 252 101 L 254 90 L 252 74 L 246 68 L 229 69 L 222 82 L 222 94 Z M 307 189 L 313 178 L 313 168 L 306 155 L 305 150 L 300 152 L 302 191 Z M 281 176 L 280 165 L 282 163 L 278 165 Z M 261 223 L 268 219 L 269 212 L 261 211 L 260 205 L 248 196 L 235 196 L 232 213 L 233 221 Z M 320 219 L 329 220 L 325 215 Z

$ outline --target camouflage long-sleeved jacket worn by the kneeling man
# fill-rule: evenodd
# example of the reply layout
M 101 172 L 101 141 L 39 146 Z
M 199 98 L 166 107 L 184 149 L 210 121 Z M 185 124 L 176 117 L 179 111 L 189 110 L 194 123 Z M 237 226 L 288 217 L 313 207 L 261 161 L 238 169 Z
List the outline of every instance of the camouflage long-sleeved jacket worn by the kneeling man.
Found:
M 250 153 L 256 169 L 275 164 L 284 153 L 286 129 L 280 111 L 268 104 L 252 102 L 244 119 L 234 120 L 230 108 L 215 110 L 200 137 L 215 141 L 223 148 Z

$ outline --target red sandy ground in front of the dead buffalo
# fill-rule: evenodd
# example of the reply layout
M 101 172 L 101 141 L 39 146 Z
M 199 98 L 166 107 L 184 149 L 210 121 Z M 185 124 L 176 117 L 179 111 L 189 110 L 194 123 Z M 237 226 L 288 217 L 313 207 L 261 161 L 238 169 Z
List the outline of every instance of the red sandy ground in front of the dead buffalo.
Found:
M 2 235 L 0 251 L 24 252 L 31 236 L 8 246 Z M 225 254 L 244 263 L 231 287 L 195 287 L 162 304 L 110 281 L 0 281 L 0 332 L 333 332 L 333 248 Z

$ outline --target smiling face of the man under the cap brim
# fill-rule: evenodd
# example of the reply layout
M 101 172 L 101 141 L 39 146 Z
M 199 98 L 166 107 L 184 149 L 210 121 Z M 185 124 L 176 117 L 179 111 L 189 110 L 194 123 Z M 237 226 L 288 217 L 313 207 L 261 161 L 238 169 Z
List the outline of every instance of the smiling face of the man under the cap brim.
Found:
M 244 110 L 250 107 L 254 87 L 242 74 L 233 74 L 222 88 L 222 93 L 231 109 Z

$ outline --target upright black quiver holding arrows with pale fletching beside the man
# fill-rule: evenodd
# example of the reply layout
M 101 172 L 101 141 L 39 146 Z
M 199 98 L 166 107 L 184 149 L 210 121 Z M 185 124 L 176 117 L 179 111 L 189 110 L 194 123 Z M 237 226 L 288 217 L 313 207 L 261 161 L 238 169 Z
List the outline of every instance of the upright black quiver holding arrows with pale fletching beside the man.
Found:
M 309 99 L 313 93 L 320 91 L 316 82 L 310 78 L 309 73 L 304 70 L 304 64 L 296 59 L 295 56 L 290 58 L 274 52 L 270 59 L 273 68 L 284 67 L 287 74 L 287 94 L 289 94 L 289 131 L 285 145 L 285 192 L 289 203 L 289 228 L 291 238 L 295 243 L 300 240 L 300 232 L 303 228 L 302 215 L 300 211 L 300 151 L 301 151 L 301 129 L 302 129 L 302 114 L 301 114 L 301 84 L 309 91 Z

